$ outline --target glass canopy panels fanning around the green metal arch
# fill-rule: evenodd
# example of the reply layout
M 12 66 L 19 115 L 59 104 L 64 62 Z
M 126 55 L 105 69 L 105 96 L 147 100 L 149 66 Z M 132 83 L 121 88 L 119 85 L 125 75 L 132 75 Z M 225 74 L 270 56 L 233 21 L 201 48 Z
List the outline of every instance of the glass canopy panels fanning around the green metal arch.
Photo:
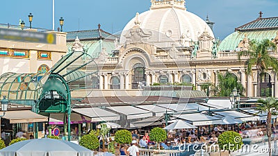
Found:
M 70 91 L 84 89 L 80 96 L 92 92 L 90 75 L 97 73 L 93 58 L 83 52 L 72 52 L 60 59 L 48 73 L 4 73 L 0 76 L 0 94 L 9 101 L 36 101 L 49 76 L 65 79 Z

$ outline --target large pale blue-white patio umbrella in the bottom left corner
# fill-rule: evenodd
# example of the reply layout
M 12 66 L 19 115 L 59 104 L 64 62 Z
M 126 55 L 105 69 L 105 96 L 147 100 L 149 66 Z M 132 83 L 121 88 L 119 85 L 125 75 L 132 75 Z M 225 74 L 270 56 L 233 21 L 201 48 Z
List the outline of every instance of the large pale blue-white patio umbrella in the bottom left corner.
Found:
M 30 139 L 20 141 L 0 150 L 5 156 L 92 156 L 92 150 L 69 141 L 58 139 Z

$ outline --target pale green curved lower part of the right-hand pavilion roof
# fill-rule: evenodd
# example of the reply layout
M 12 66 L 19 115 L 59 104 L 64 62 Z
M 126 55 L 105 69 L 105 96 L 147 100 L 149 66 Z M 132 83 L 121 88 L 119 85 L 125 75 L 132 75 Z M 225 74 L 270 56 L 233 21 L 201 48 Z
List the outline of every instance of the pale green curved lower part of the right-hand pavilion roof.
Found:
M 265 31 L 236 31 L 227 36 L 220 44 L 219 51 L 234 51 L 238 47 L 238 44 L 244 39 L 245 34 L 248 40 L 261 41 L 264 39 L 273 40 L 277 36 L 277 30 L 265 30 Z

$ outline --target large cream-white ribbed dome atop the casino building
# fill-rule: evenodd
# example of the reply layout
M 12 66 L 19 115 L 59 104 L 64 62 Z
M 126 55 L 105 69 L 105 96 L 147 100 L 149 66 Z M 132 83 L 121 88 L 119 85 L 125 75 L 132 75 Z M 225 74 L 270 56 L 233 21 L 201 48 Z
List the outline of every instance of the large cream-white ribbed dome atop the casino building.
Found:
M 121 44 L 126 44 L 126 34 L 136 25 L 149 34 L 149 43 L 158 47 L 171 47 L 173 42 L 177 46 L 190 46 L 191 40 L 197 42 L 198 37 L 206 30 L 214 38 L 211 28 L 206 22 L 188 12 L 184 0 L 152 0 L 150 10 L 142 12 L 131 19 L 124 27 Z M 140 19 L 140 24 L 136 21 Z M 149 33 L 150 32 L 150 33 Z

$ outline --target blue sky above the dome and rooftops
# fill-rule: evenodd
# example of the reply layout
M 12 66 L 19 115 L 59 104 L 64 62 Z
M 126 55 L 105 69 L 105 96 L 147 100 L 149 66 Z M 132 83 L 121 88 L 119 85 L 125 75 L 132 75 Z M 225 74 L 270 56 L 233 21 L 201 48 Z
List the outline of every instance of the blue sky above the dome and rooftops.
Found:
M 55 0 L 55 28 L 60 17 L 65 19 L 64 31 L 96 29 L 97 24 L 109 33 L 122 31 L 136 12 L 149 10 L 150 0 Z M 278 17 L 278 0 L 186 0 L 186 8 L 202 19 L 215 22 L 213 31 L 220 40 L 263 12 L 263 17 Z M 1 1 L 1 24 L 28 26 L 28 14 L 33 13 L 33 27 L 52 28 L 52 0 Z

